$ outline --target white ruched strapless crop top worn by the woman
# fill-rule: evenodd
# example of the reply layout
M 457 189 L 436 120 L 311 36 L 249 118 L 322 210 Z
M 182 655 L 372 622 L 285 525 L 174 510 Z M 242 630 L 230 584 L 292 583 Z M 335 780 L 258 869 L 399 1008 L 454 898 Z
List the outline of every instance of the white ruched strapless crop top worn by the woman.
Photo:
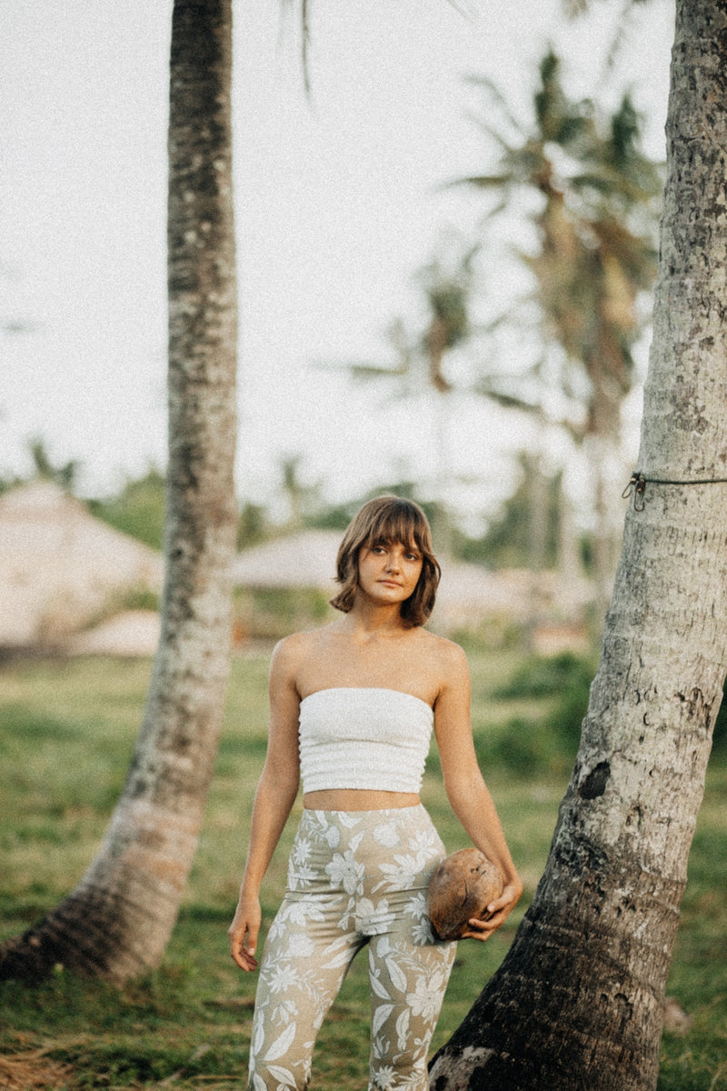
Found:
M 336 687 L 301 702 L 303 792 L 419 792 L 434 712 L 398 690 Z

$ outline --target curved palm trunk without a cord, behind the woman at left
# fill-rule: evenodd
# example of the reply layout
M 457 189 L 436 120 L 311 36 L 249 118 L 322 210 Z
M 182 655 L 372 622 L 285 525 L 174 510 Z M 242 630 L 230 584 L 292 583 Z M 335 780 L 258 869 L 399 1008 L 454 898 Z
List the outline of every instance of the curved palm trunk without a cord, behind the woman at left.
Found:
M 175 0 L 169 121 L 169 467 L 161 638 L 129 777 L 77 887 L 0 949 L 122 982 L 160 962 L 196 849 L 229 672 L 237 286 L 231 0 Z

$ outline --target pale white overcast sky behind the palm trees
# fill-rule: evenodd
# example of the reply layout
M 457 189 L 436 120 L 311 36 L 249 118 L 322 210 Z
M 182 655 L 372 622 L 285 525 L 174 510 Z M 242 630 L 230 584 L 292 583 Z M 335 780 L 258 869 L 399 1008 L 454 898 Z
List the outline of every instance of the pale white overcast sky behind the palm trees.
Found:
M 437 472 L 426 403 L 383 408 L 312 362 L 387 362 L 383 332 L 415 314 L 412 274 L 448 225 L 476 219 L 475 195 L 438 190 L 487 167 L 463 76 L 526 108 L 552 41 L 569 89 L 595 95 L 620 3 L 594 0 L 574 26 L 556 0 L 467 8 L 313 0 L 308 104 L 295 16 L 281 36 L 277 0 L 235 2 L 245 497 L 268 499 L 281 456 L 301 455 L 334 500 Z M 0 472 L 27 470 L 38 435 L 81 460 L 86 492 L 163 464 L 170 20 L 170 0 L 0 0 L 0 317 L 36 326 L 0 341 Z M 671 28 L 668 2 L 639 9 L 614 81 L 647 111 L 657 156 Z M 493 267 L 507 292 L 504 276 Z M 520 433 L 472 398 L 447 429 L 449 470 L 477 482 L 463 503 L 485 506 Z

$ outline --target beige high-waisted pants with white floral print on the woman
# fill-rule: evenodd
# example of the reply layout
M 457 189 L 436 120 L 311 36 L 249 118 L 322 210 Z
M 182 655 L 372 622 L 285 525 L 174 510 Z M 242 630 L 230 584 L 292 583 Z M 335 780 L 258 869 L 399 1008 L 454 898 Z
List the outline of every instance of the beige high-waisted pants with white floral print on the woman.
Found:
M 427 1091 L 427 1051 L 455 960 L 425 896 L 446 855 L 423 806 L 304 811 L 265 944 L 249 1091 L 308 1087 L 316 1034 L 368 947 L 369 1091 Z

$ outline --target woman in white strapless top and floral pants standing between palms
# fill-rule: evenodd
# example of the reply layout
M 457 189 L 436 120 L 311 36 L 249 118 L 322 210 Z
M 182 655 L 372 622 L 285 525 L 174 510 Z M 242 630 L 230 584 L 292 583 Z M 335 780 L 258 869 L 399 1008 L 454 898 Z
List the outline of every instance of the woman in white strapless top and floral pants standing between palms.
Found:
M 365 504 L 338 552 L 343 616 L 281 640 L 270 664 L 267 758 L 253 805 L 232 958 L 257 967 L 263 876 L 303 781 L 288 889 L 262 961 L 252 1091 L 308 1086 L 316 1033 L 354 955 L 368 948 L 369 1091 L 425 1091 L 456 944 L 433 938 L 427 883 L 444 846 L 420 802 L 432 728 L 452 810 L 497 863 L 501 897 L 465 936 L 487 939 L 522 892 L 477 767 L 463 651 L 422 626 L 439 565 L 422 509 Z

